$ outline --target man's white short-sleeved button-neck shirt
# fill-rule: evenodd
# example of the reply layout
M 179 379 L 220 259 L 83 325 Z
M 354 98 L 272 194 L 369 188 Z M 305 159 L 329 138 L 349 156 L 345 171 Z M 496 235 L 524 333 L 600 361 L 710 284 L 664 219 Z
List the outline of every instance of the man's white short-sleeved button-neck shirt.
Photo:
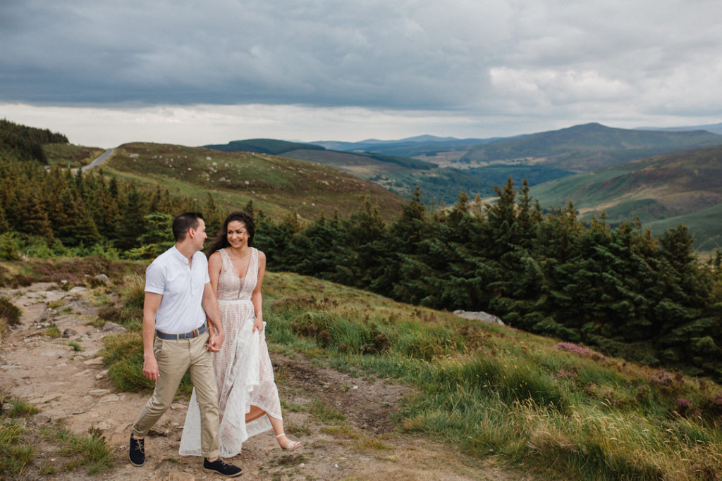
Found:
M 145 271 L 145 291 L 162 294 L 155 314 L 155 328 L 168 334 L 183 334 L 206 322 L 201 306 L 203 289 L 211 281 L 203 252 L 188 258 L 175 245 L 155 258 Z

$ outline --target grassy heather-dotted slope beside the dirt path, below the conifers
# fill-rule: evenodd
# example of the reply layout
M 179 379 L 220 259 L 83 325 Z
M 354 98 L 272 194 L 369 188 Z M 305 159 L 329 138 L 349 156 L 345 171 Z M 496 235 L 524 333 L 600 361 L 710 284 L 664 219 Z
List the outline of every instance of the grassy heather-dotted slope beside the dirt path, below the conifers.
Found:
M 137 330 L 136 286 L 123 296 Z M 722 388 L 711 381 L 290 273 L 266 273 L 264 320 L 275 352 L 409 384 L 399 429 L 469 454 L 564 479 L 722 476 Z M 139 331 L 110 338 L 111 373 L 142 369 L 140 342 Z M 121 377 L 123 389 L 147 389 L 127 382 L 137 373 Z

